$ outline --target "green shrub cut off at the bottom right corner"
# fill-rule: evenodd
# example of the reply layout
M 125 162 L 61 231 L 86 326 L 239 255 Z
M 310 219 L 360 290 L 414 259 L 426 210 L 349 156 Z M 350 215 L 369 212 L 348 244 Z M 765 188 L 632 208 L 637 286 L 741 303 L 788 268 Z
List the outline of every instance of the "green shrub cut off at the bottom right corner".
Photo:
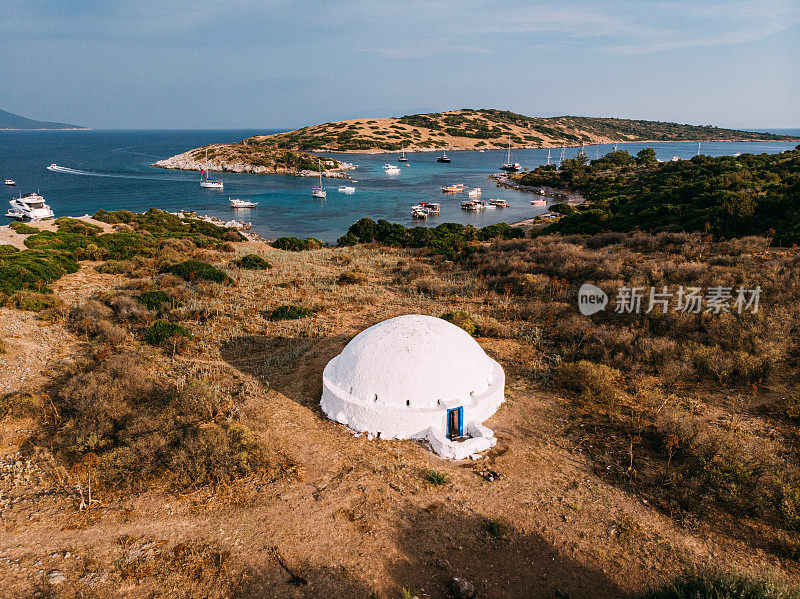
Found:
M 798 589 L 781 588 L 771 581 L 741 574 L 690 571 L 640 599 L 797 599 Z

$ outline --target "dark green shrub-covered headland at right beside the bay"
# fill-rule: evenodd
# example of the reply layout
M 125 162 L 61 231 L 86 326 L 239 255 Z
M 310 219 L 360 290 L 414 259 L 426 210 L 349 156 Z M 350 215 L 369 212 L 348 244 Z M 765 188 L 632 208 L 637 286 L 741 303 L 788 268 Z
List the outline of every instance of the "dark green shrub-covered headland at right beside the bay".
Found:
M 514 179 L 583 194 L 587 201 L 545 232 L 690 231 L 730 239 L 768 235 L 772 243 L 800 242 L 799 149 L 780 154 L 695 156 L 659 163 L 647 148 L 598 160 L 585 156 L 541 166 Z

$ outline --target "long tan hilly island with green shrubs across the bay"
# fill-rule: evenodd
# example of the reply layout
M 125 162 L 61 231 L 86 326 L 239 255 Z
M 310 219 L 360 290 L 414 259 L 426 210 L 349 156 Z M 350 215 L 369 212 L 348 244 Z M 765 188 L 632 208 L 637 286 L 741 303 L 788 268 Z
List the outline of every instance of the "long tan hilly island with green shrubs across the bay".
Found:
M 462 108 L 402 117 L 351 119 L 272 135 L 255 135 L 208 148 L 209 170 L 315 174 L 316 156 L 305 152 L 380 153 L 436 150 L 558 148 L 582 144 L 667 141 L 791 141 L 774 133 L 681 125 L 661 121 L 579 116 L 530 117 L 507 110 Z M 205 149 L 196 148 L 153 166 L 198 170 Z M 323 164 L 326 176 L 346 176 L 351 165 Z

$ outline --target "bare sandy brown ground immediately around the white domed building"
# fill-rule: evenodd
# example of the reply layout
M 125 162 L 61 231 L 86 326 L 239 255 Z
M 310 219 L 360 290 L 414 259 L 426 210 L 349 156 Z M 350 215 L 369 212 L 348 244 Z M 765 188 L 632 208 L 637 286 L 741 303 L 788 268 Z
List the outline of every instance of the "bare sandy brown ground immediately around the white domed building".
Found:
M 796 564 L 777 563 L 705 526 L 683 529 L 599 477 L 586 457 L 591 448 L 576 446 L 564 432 L 566 400 L 530 386 L 516 369 L 520 347 L 511 340 L 479 339 L 508 380 L 507 401 L 487 423 L 499 444 L 485 460 L 443 461 L 415 442 L 368 440 L 327 420 L 318 404 L 322 369 L 353 335 L 391 316 L 439 315 L 462 306 L 390 284 L 407 260 L 400 252 L 298 255 L 253 242 L 242 246 L 239 253 L 256 251 L 275 267 L 235 273 L 237 287 L 214 300 L 218 318 L 193 326 L 202 355 L 165 358 L 154 367 L 238 389 L 244 423 L 275 459 L 291 465 L 287 473 L 185 495 L 101 494 L 87 516 L 77 510 L 74 489 L 59 482 L 58 468 L 23 451 L 32 423 L 6 419 L 0 428 L 0 597 L 30 595 L 59 575 L 59 589 L 97 596 L 211 596 L 189 593 L 191 579 L 160 574 L 156 566 L 133 578 L 123 574 L 134 549 L 158 555 L 157 548 L 179 542 L 230 552 L 239 597 L 394 599 L 413 589 L 419 597 L 443 598 L 447 581 L 458 575 L 484 598 L 616 598 L 688 564 L 800 579 Z M 343 255 L 353 262 L 343 264 Z M 354 263 L 367 283 L 337 285 L 336 277 Z M 54 288 L 70 304 L 119 282 L 85 263 Z M 318 315 L 291 323 L 259 316 L 301 299 Z M 0 356 L 0 398 L 41 381 L 42 370 L 81 344 L 60 325 L 13 310 L 0 310 L 0 337 L 10 346 Z M 501 478 L 485 480 L 479 473 L 487 468 Z M 428 469 L 449 482 L 430 484 L 423 476 Z M 485 524 L 496 520 L 507 532 L 488 537 Z M 291 584 L 278 557 L 306 584 Z

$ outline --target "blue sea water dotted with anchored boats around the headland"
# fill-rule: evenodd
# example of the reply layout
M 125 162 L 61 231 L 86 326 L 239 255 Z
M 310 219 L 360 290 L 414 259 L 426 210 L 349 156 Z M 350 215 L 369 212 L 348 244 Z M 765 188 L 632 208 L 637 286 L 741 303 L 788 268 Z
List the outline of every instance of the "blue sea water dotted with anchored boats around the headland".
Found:
M 202 131 L 0 131 L 0 180 L 17 182 L 16 187 L 0 187 L 10 200 L 19 193 L 39 192 L 56 216 L 81 216 L 105 210 L 127 209 L 142 212 L 160 208 L 170 212 L 193 210 L 223 220 L 252 224 L 252 230 L 267 239 L 292 235 L 313 236 L 335 242 L 359 218 L 383 218 L 405 226 L 436 226 L 445 222 L 472 224 L 477 227 L 513 223 L 547 211 L 546 206 L 531 205 L 528 192 L 497 187 L 489 175 L 499 172 L 506 161 L 502 150 L 453 151 L 449 164 L 436 162 L 438 153 L 408 153 L 406 165 L 397 162 L 397 154 L 331 154 L 339 160 L 358 165 L 351 171 L 354 182 L 326 179 L 327 198 L 316 199 L 311 190 L 314 178 L 288 175 L 250 175 L 219 173 L 223 190 L 200 187 L 198 172 L 164 170 L 152 163 L 209 143 L 236 142 L 255 134 L 281 130 L 202 130 Z M 775 133 L 800 136 L 800 129 L 774 130 Z M 704 142 L 700 152 L 710 156 L 737 153 L 778 153 L 793 149 L 797 142 Z M 659 160 L 673 156 L 691 158 L 698 153 L 696 142 L 620 143 L 618 149 L 636 154 L 644 147 L 655 148 Z M 613 151 L 615 145 L 587 146 L 589 158 Z M 564 157 L 574 156 L 580 148 L 565 148 Z M 512 150 L 512 161 L 533 169 L 556 162 L 562 150 Z M 384 163 L 397 164 L 400 172 L 384 173 Z M 55 163 L 59 172 L 47 170 Z M 466 212 L 461 202 L 466 194 L 444 194 L 441 188 L 463 183 L 480 187 L 484 200 L 501 198 L 508 208 Z M 338 191 L 341 184 L 352 185 L 355 192 Z M 252 209 L 231 209 L 229 198 L 258 202 Z M 441 203 L 441 213 L 427 221 L 412 219 L 411 206 L 419 202 Z M 549 203 L 552 203 L 552 200 Z M 2 214 L 5 213 L 3 210 Z

